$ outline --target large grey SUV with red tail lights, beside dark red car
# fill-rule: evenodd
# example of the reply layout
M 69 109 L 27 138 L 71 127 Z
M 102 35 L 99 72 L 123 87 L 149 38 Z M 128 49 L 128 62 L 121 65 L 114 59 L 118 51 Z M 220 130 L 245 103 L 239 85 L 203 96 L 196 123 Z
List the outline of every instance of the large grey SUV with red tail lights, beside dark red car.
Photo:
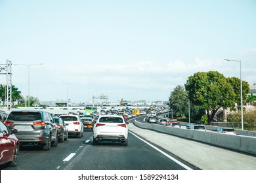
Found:
M 16 137 L 21 146 L 30 144 L 50 150 L 58 145 L 58 126 L 45 110 L 13 110 L 5 125 L 18 130 Z

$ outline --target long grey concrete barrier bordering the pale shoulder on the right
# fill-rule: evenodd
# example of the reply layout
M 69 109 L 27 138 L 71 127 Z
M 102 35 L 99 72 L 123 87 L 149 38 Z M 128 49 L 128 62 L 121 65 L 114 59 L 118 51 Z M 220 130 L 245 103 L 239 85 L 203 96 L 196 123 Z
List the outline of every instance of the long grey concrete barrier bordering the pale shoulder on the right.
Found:
M 230 150 L 236 150 L 238 152 L 256 155 L 256 137 L 227 135 L 223 133 L 216 133 L 214 131 L 200 131 L 157 124 L 145 124 L 140 123 L 137 120 L 135 120 L 134 124 L 144 129 L 159 131 L 161 133 L 167 133 L 194 141 L 228 148 Z

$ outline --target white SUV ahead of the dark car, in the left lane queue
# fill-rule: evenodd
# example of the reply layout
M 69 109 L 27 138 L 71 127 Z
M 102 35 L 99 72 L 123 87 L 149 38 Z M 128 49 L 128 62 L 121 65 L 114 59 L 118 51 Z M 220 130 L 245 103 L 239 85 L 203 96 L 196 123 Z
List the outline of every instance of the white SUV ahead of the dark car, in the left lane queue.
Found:
M 60 118 L 68 124 L 68 135 L 74 135 L 79 138 L 83 137 L 83 123 L 78 115 L 60 115 Z

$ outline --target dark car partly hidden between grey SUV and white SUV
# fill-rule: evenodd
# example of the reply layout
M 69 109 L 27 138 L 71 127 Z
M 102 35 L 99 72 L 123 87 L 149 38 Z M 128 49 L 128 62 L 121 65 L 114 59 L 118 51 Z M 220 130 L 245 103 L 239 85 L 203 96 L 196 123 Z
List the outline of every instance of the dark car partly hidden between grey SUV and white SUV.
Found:
M 53 120 L 58 126 L 58 141 L 68 141 L 68 128 L 66 127 L 68 124 L 65 124 L 62 118 L 59 118 L 58 116 L 53 116 Z

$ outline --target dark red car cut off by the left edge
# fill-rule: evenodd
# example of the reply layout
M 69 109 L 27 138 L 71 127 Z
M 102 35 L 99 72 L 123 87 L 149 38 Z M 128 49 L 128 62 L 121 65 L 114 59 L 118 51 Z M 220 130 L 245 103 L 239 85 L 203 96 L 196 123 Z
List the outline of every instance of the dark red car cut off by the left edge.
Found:
M 18 133 L 16 129 L 9 129 L 0 122 L 0 165 L 15 167 L 18 163 L 20 142 L 15 133 Z

